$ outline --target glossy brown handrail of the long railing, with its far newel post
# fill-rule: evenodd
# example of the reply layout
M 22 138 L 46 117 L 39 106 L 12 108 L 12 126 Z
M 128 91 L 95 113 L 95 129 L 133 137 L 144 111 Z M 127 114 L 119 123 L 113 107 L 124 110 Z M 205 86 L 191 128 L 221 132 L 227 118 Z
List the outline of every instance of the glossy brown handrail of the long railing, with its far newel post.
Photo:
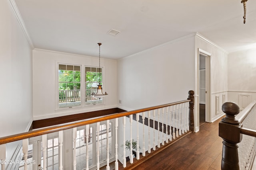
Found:
M 173 102 L 173 103 L 170 103 L 170 104 L 163 104 L 163 105 L 159 105 L 159 106 L 147 107 L 147 108 L 137 109 L 137 110 L 133 110 L 133 111 L 125 111 L 125 112 L 122 112 L 122 113 L 114 113 L 114 114 L 111 114 L 111 115 L 94 117 L 94 118 L 90 118 L 90 119 L 86 119 L 86 120 L 82 120 L 82 121 L 76 121 L 76 122 L 73 122 L 73 123 L 66 123 L 66 124 L 56 125 L 56 126 L 52 126 L 52 127 L 46 127 L 46 128 L 42 128 L 42 129 L 38 129 L 38 130 L 34 130 L 34 131 L 19 133 L 19 134 L 16 134 L 16 135 L 1 137 L 0 138 L 0 145 L 10 143 L 10 142 L 14 142 L 14 141 L 19 141 L 19 140 L 22 140 L 22 139 L 28 139 L 30 137 L 36 137 L 36 136 L 45 135 L 45 134 L 48 134 L 48 133 L 53 133 L 53 132 L 57 132 L 57 131 L 71 129 L 71 128 L 79 127 L 79 126 L 83 126 L 83 125 L 88 125 L 88 124 L 92 124 L 92 123 L 96 123 L 96 122 L 100 122 L 100 121 L 105 121 L 105 120 L 108 120 L 108 119 L 115 119 L 115 118 L 118 118 L 118 117 L 123 117 L 123 116 L 127 116 L 127 115 L 133 115 L 133 114 L 136 114 L 136 113 L 141 113 L 141 112 L 144 112 L 144 111 L 160 109 L 162 107 L 174 106 L 176 104 L 182 104 L 182 103 L 186 103 L 186 102 L 190 102 L 189 111 L 190 111 L 191 115 L 189 115 L 189 125 L 193 125 L 193 128 L 194 128 L 194 113 L 193 113 L 194 106 L 192 107 L 192 104 L 194 105 L 194 96 L 193 96 L 194 91 L 190 90 L 188 92 L 188 94 L 189 94 L 188 100 Z M 191 120 L 193 120 L 193 122 L 190 122 Z

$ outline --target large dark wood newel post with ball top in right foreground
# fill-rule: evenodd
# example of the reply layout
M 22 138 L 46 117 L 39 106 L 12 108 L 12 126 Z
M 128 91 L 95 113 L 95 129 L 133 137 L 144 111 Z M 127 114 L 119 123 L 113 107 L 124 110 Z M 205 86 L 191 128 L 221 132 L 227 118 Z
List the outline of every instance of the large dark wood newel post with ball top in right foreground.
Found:
M 240 112 L 240 108 L 233 102 L 226 102 L 222 105 L 222 111 L 226 113 L 226 117 L 219 123 L 219 136 L 223 139 L 221 169 L 239 170 L 237 144 L 242 141 L 242 125 L 235 115 Z

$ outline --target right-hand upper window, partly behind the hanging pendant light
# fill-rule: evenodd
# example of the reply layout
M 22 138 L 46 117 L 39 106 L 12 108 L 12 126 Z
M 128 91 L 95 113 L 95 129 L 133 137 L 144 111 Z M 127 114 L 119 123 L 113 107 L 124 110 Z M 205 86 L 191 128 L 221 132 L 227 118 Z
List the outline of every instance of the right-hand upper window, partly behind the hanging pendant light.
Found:
M 102 68 L 85 67 L 85 104 L 99 104 L 102 103 L 102 99 L 94 98 L 93 93 L 97 92 L 98 82 L 102 84 Z

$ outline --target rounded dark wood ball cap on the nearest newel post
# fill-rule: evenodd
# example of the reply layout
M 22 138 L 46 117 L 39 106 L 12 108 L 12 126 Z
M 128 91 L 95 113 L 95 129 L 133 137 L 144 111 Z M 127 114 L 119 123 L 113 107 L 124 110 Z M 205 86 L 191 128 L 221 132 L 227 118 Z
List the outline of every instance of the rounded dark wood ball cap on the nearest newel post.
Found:
M 222 111 L 226 113 L 226 117 L 222 121 L 232 125 L 239 125 L 236 115 L 240 112 L 239 106 L 234 102 L 225 102 L 222 104 Z

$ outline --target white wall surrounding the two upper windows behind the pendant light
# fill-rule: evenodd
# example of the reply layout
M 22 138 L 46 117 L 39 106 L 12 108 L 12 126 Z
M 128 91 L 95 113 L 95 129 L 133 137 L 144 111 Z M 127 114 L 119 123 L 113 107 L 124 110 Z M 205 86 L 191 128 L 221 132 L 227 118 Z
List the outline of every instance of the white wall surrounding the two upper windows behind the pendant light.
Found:
M 104 98 L 104 105 L 57 110 L 55 106 L 56 106 L 56 98 L 58 98 L 58 95 L 56 97 L 56 83 L 58 83 L 58 80 L 56 82 L 56 78 L 57 78 L 56 70 L 57 70 L 58 62 L 68 63 L 68 64 L 86 64 L 88 66 L 98 66 L 99 58 L 34 49 L 33 50 L 33 118 L 34 120 L 117 107 L 117 104 L 116 104 L 117 61 L 101 58 L 100 66 L 104 67 L 103 90 L 104 92 L 105 91 L 108 92 L 108 95 Z M 57 84 L 57 87 L 58 87 L 58 84 Z

